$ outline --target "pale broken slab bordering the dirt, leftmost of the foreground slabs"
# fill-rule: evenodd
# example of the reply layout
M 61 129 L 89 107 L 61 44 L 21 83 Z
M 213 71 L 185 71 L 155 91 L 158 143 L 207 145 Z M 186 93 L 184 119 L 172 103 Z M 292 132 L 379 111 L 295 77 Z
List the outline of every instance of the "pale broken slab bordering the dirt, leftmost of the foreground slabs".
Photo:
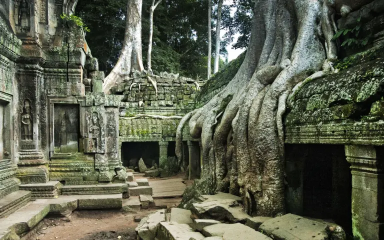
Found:
M 136 232 L 142 240 L 154 240 L 159 222 L 165 221 L 165 210 L 161 209 L 142 218 Z

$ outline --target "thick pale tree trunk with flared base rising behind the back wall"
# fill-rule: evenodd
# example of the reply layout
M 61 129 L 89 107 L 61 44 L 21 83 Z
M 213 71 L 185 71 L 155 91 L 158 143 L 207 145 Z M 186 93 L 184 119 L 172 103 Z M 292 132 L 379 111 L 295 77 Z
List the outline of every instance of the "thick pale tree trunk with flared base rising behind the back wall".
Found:
M 144 69 L 141 55 L 141 8 L 142 0 L 128 0 L 125 35 L 120 57 L 104 79 L 103 91 L 107 94 L 133 70 Z

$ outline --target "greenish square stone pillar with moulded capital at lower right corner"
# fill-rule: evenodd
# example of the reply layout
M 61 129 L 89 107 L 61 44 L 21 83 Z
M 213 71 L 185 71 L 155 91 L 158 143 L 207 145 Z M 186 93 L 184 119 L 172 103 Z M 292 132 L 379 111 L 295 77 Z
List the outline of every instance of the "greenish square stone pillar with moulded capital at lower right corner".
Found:
M 345 145 L 352 173 L 352 232 L 355 239 L 384 239 L 384 148 Z

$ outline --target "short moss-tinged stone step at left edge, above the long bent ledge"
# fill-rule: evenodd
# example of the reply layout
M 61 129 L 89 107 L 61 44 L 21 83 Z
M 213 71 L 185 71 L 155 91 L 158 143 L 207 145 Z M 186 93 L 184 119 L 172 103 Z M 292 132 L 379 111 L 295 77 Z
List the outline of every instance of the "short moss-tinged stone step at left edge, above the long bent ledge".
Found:
M 30 200 L 30 191 L 14 191 L 0 198 L 0 217 L 4 217 L 25 205 Z

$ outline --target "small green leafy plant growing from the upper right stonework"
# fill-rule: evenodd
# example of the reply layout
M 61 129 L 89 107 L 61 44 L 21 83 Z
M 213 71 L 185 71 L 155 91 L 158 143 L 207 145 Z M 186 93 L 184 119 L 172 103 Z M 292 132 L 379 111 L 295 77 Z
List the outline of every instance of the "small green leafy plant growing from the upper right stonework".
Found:
M 336 32 L 336 34 L 333 35 L 332 39 L 336 40 L 341 35 L 344 36 L 344 40 L 341 43 L 341 46 L 357 46 L 357 47 L 364 47 L 372 37 L 372 34 L 368 34 L 366 36 L 360 35 L 360 29 L 362 27 L 362 23 L 360 22 L 361 17 L 358 17 L 356 19 L 357 24 L 353 28 L 342 28 L 339 31 Z

